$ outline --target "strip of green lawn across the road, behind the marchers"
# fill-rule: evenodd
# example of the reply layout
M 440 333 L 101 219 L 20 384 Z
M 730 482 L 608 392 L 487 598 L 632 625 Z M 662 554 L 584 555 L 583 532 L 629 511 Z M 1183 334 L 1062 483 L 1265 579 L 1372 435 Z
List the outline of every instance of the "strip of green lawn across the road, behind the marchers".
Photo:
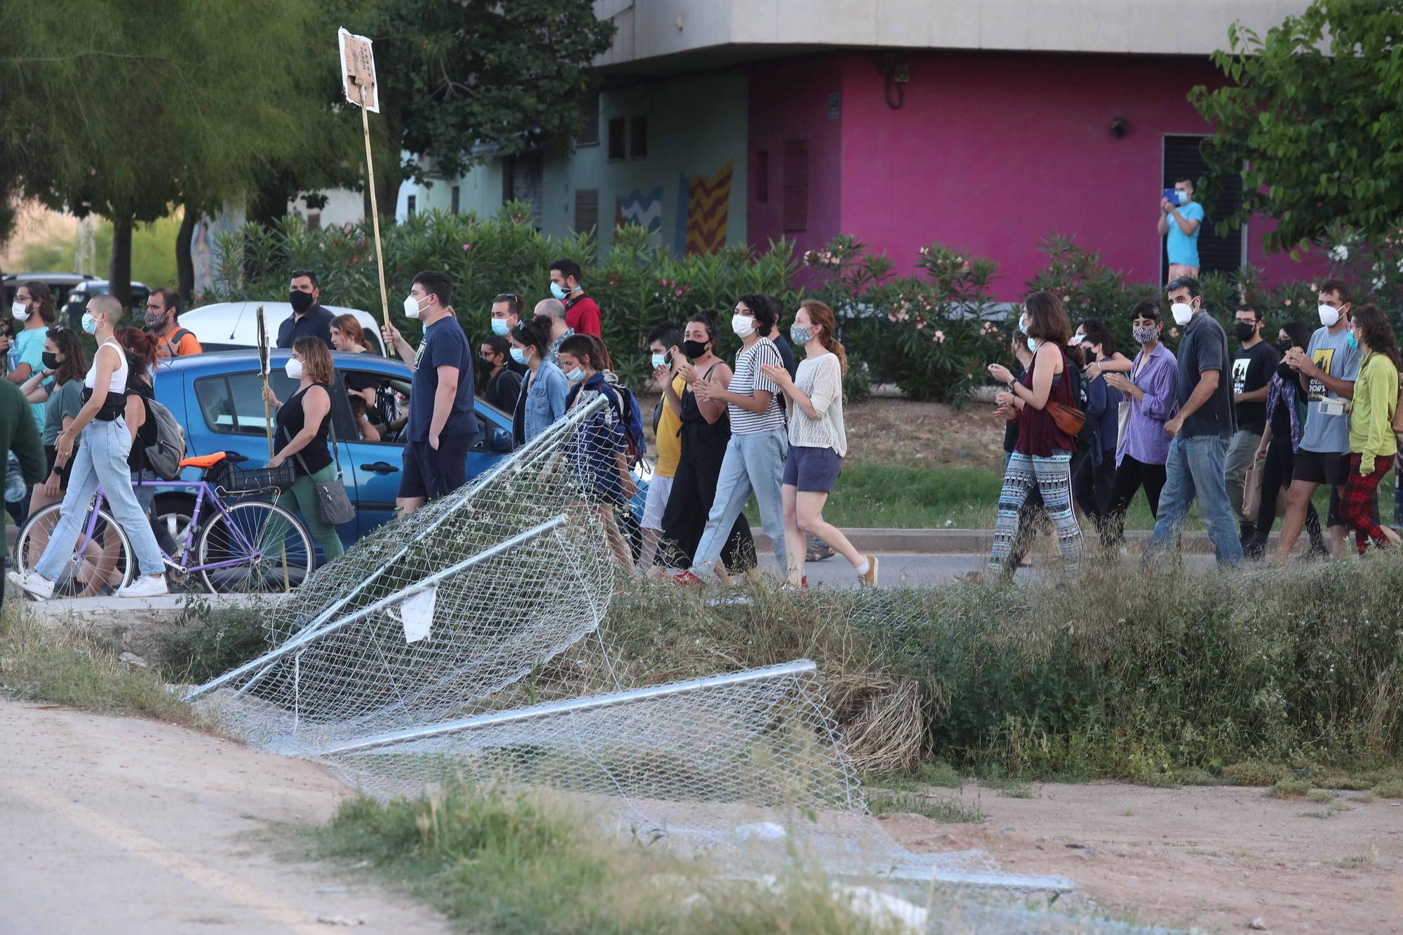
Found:
M 892 468 L 877 463 L 853 465 L 833 487 L 824 518 L 839 528 L 871 529 L 992 529 L 998 512 L 1003 475 L 985 468 Z M 1322 519 L 1329 508 L 1329 489 L 1313 500 Z M 1379 512 L 1393 517 L 1392 475 L 1379 484 Z M 759 528 L 753 503 L 746 510 Z M 1127 529 L 1153 529 L 1155 518 L 1145 494 L 1139 493 L 1125 512 Z M 1186 529 L 1201 531 L 1198 504 L 1188 511 Z M 1281 522 L 1277 522 L 1277 529 Z

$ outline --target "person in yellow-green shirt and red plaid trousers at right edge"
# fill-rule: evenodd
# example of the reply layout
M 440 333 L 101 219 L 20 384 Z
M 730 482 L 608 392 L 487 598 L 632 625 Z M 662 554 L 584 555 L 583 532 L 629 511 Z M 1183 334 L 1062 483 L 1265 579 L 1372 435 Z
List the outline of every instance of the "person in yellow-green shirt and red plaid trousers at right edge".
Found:
M 1340 494 L 1340 514 L 1354 529 L 1360 555 L 1364 555 L 1369 539 L 1381 548 L 1399 545 L 1399 535 L 1379 525 L 1371 508 L 1378 501 L 1379 482 L 1393 466 L 1399 451 L 1393 435 L 1393 414 L 1399 402 L 1399 344 L 1383 309 L 1372 303 L 1350 316 L 1350 343 L 1358 344 L 1364 362 L 1354 382 L 1350 472 Z

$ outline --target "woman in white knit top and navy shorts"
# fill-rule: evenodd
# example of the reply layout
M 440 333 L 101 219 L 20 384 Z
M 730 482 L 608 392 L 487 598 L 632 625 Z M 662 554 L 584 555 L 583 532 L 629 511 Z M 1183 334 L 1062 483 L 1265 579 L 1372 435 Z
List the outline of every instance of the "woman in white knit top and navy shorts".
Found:
M 784 552 L 788 557 L 786 587 L 808 587 L 804 577 L 804 542 L 814 535 L 826 542 L 857 573 L 863 585 L 877 584 L 877 556 L 861 555 L 836 526 L 824 522 L 824 504 L 843 470 L 847 435 L 843 431 L 843 373 L 847 357 L 833 337 L 833 310 L 817 299 L 798 306 L 790 327 L 790 344 L 807 357 L 790 379 L 783 366 L 762 366 L 790 400 L 788 456 L 784 459 Z

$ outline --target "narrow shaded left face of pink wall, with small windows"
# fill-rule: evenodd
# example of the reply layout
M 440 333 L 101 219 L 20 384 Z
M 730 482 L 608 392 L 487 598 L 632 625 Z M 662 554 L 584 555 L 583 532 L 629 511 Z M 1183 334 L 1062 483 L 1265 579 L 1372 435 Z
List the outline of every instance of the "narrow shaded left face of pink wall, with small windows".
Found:
M 781 236 L 796 256 L 825 244 L 840 226 L 843 191 L 842 121 L 828 119 L 828 95 L 842 91 L 843 59 L 835 56 L 758 65 L 749 70 L 748 239 L 763 248 Z M 784 142 L 808 140 L 808 230 L 786 232 Z M 769 198 L 758 201 L 756 157 L 769 153 Z

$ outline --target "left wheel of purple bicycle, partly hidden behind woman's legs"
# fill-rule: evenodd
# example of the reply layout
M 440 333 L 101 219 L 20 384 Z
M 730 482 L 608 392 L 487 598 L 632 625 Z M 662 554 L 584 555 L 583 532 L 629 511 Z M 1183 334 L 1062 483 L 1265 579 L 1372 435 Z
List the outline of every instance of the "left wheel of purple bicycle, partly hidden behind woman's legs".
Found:
M 39 563 L 53 528 L 59 525 L 62 504 L 51 503 L 29 517 L 14 543 L 14 564 L 29 571 Z M 91 511 L 79 532 L 63 571 L 53 581 L 53 597 L 98 597 L 112 594 L 132 580 L 136 559 L 132 543 L 107 510 Z

